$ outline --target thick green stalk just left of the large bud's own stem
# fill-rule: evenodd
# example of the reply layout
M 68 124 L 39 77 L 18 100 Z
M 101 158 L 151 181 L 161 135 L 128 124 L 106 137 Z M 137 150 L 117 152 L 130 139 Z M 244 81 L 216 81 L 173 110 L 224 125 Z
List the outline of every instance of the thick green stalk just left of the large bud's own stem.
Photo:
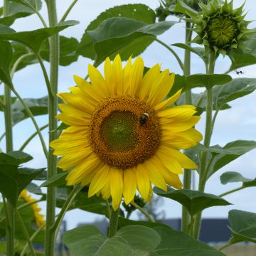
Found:
M 186 22 L 186 43 L 191 41 L 191 23 Z M 188 43 L 189 44 L 189 43 Z M 184 65 L 183 65 L 183 74 L 185 76 L 190 75 L 191 73 L 191 53 L 189 50 L 185 50 L 184 54 Z M 185 92 L 185 98 L 186 98 L 186 105 L 192 104 L 192 97 L 191 97 L 191 90 L 186 90 Z M 183 188 L 191 189 L 191 170 L 190 169 L 184 169 L 184 176 L 183 176 Z M 182 206 L 182 221 L 181 221 L 181 230 L 187 234 L 189 234 L 189 228 L 191 225 L 190 223 L 190 214 L 188 213 L 188 210 Z

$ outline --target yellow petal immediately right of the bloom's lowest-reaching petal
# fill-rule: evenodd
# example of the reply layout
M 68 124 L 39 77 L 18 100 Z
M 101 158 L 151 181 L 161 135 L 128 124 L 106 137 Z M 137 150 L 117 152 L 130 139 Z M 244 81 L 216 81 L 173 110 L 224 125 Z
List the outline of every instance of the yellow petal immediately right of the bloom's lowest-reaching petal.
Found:
M 124 170 L 124 202 L 131 203 L 137 188 L 136 168 Z

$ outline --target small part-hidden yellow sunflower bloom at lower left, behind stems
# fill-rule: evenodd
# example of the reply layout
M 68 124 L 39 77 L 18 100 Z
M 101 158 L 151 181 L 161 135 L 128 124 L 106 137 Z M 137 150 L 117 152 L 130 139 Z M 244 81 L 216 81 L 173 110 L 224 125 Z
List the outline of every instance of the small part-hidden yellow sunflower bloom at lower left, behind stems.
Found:
M 28 193 L 26 189 L 23 189 L 23 191 L 21 191 L 19 197 L 22 198 L 23 201 L 25 201 L 26 203 L 31 203 L 30 206 L 33 210 L 35 218 L 34 220 L 38 228 L 46 223 L 46 221 L 44 220 L 44 215 L 41 214 L 41 208 L 38 206 L 38 203 L 33 203 L 36 201 L 36 199 L 32 198 L 32 196 Z

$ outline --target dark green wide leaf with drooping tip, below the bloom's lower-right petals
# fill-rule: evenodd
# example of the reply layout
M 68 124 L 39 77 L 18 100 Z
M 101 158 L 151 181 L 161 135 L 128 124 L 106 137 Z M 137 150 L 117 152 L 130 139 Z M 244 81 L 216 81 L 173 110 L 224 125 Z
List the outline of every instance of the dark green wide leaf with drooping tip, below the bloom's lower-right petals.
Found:
M 201 210 L 212 206 L 228 206 L 231 204 L 219 196 L 189 189 L 175 190 L 174 188 L 168 187 L 168 190 L 165 192 L 160 188 L 154 187 L 153 191 L 159 196 L 164 196 L 181 203 L 191 215 L 195 215 Z

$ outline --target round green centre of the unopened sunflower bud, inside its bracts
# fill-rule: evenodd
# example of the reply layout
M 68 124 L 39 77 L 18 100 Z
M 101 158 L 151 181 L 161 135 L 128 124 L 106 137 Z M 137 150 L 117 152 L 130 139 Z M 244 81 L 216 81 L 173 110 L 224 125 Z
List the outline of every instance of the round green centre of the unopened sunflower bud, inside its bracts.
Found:
M 227 48 L 236 40 L 238 28 L 232 16 L 215 16 L 209 19 L 206 33 L 211 47 Z

